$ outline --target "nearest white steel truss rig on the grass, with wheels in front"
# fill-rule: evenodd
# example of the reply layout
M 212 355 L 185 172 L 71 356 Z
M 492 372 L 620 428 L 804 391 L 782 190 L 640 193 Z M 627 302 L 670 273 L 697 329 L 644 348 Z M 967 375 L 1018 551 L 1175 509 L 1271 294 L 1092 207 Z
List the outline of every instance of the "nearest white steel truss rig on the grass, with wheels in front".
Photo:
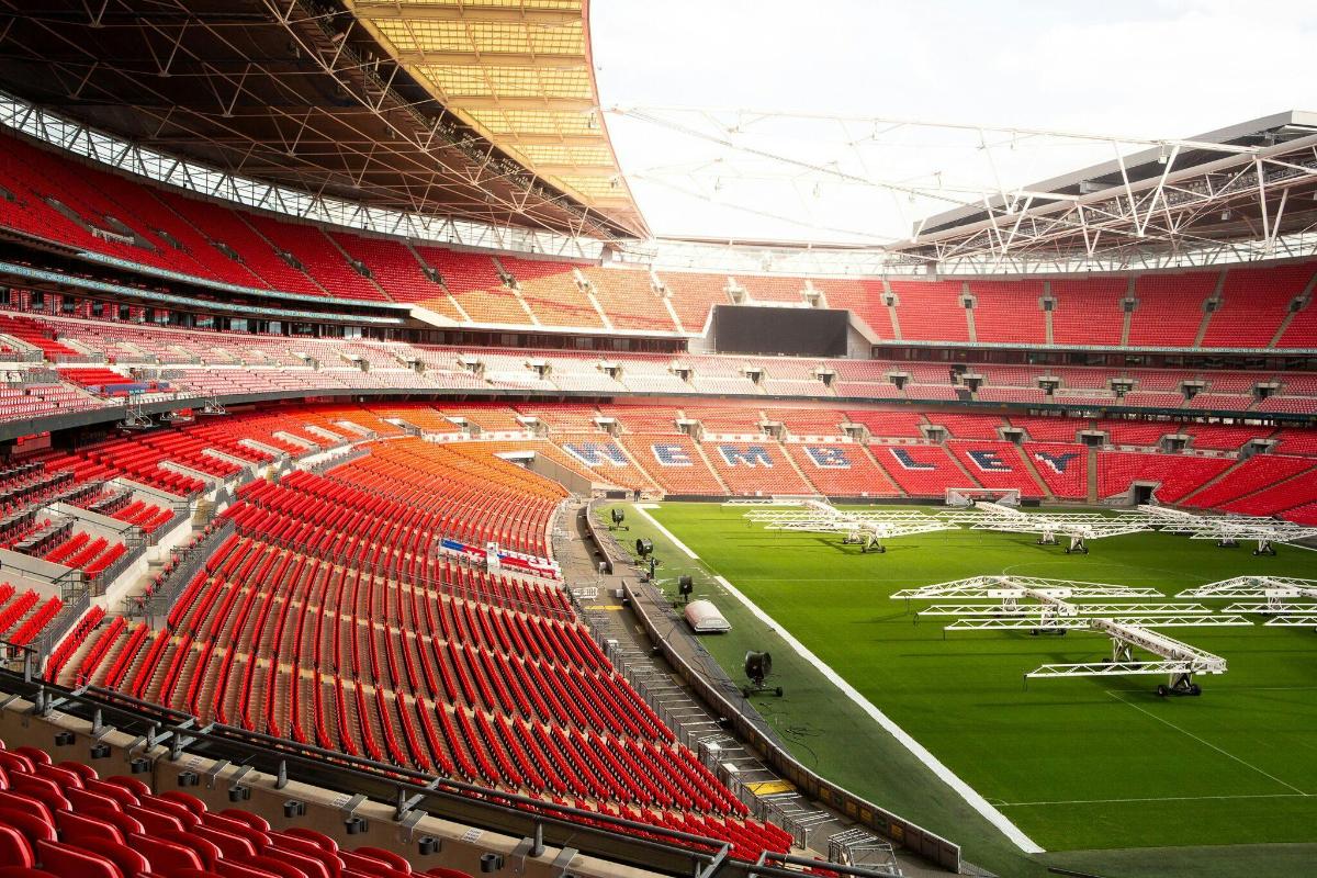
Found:
M 905 588 L 896 600 L 997 599 L 1000 604 L 948 603 L 921 611 L 919 616 L 955 616 L 944 631 L 1030 631 L 1064 634 L 1068 631 L 1105 633 L 1112 641 L 1110 658 L 1102 662 L 1048 663 L 1025 678 L 1121 677 L 1166 674 L 1159 695 L 1198 695 L 1193 674 L 1223 674 L 1226 661 L 1151 628 L 1247 627 L 1247 619 L 1213 613 L 1202 604 L 1110 603 L 1079 604 L 1088 598 L 1162 598 L 1154 588 L 1115 586 L 1069 579 L 1030 577 L 972 577 L 921 588 Z M 1031 603 L 1025 603 L 1031 602 Z M 1156 657 L 1138 659 L 1141 649 Z

